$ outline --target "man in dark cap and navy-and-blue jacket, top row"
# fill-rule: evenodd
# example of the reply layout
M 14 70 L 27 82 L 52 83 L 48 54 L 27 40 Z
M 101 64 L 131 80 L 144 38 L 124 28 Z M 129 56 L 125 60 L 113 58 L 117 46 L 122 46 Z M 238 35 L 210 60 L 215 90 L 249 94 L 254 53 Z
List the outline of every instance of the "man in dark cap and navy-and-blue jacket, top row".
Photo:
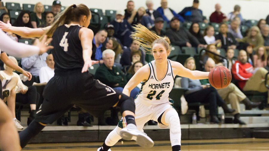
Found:
M 198 9 L 198 7 L 199 7 L 199 0 L 194 0 L 192 7 L 185 7 L 178 14 L 181 15 L 187 21 L 207 23 L 208 21 L 203 16 L 202 10 Z

